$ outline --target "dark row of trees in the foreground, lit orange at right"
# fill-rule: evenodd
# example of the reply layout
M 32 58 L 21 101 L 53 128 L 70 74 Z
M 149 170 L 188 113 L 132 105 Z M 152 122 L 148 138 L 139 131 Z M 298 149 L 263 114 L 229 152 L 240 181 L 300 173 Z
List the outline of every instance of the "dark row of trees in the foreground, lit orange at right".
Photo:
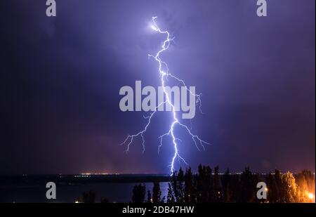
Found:
M 267 199 L 258 199 L 257 183 L 267 185 Z M 260 174 L 246 167 L 242 173 L 219 173 L 219 167 L 199 165 L 197 173 L 191 168 L 179 169 L 171 176 L 168 193 L 162 197 L 159 182 L 152 191 L 145 184 L 133 187 L 131 202 L 134 203 L 293 203 L 315 202 L 315 174 L 303 170 L 300 173 Z

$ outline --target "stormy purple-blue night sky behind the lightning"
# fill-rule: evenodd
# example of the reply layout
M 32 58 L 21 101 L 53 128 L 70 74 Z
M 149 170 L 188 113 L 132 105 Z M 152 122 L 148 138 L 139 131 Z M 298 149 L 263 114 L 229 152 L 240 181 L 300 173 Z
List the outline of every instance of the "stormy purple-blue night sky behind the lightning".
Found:
M 241 171 L 315 171 L 315 0 L 0 2 L 0 173 L 169 173 L 171 140 L 157 154 L 169 113 L 160 112 L 129 154 L 119 146 L 143 128 L 142 112 L 119 110 L 119 88 L 159 86 L 162 37 L 176 37 L 164 60 L 203 93 L 180 154 Z M 176 164 L 178 168 L 179 164 Z M 183 164 L 181 166 L 184 166 Z

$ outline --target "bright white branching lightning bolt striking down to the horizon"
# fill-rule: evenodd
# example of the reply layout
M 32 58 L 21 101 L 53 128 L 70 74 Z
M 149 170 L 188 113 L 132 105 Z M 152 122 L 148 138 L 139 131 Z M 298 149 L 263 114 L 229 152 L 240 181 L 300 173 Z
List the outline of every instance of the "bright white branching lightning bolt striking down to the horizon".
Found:
M 154 114 L 156 114 L 157 109 L 168 103 L 171 106 L 171 112 L 173 114 L 173 121 L 172 124 L 169 128 L 169 131 L 167 133 L 164 133 L 162 136 L 159 136 L 159 146 L 158 146 L 158 154 L 160 152 L 160 149 L 163 145 L 163 138 L 166 136 L 171 136 L 172 138 L 172 143 L 173 143 L 173 148 L 174 148 L 174 154 L 173 154 L 173 158 L 171 160 L 171 164 L 169 165 L 171 167 L 171 175 L 174 173 L 175 168 L 174 168 L 174 164 L 176 159 L 178 159 L 179 161 L 182 161 L 184 164 L 188 165 L 187 162 L 185 161 L 185 159 L 183 157 L 180 156 L 179 150 L 178 150 L 178 143 L 177 141 L 181 141 L 179 138 L 176 137 L 175 133 L 174 133 L 174 129 L 176 126 L 180 126 L 183 127 L 183 129 L 185 129 L 187 131 L 187 133 L 192 137 L 193 142 L 195 143 L 195 146 L 197 147 L 197 150 L 200 151 L 200 148 L 202 147 L 203 150 L 205 150 L 205 144 L 209 145 L 209 143 L 207 143 L 206 141 L 202 140 L 201 138 L 199 138 L 199 136 L 193 134 L 191 132 L 191 129 L 181 123 L 178 119 L 178 117 L 176 116 L 176 109 L 175 106 L 173 105 L 173 103 L 171 103 L 171 99 L 169 98 L 169 94 L 166 92 L 166 81 L 168 81 L 168 78 L 171 77 L 173 79 L 176 79 L 176 81 L 178 81 L 180 84 L 182 84 L 186 91 L 188 91 L 190 94 L 192 94 L 193 96 L 195 96 L 197 98 L 196 103 L 199 105 L 199 111 L 203 114 L 202 112 L 202 100 L 201 100 L 201 96 L 202 94 L 195 94 L 192 93 L 192 91 L 190 91 L 189 88 L 187 88 L 187 85 L 185 84 L 185 81 L 183 81 L 183 79 L 179 79 L 178 77 L 176 77 L 175 75 L 171 74 L 169 72 L 169 67 L 167 65 L 166 62 L 164 62 L 162 60 L 162 58 L 160 57 L 160 55 L 169 49 L 169 46 L 171 44 L 171 41 L 173 41 L 174 38 L 171 37 L 171 35 L 169 34 L 168 31 L 162 31 L 159 26 L 157 25 L 156 22 L 157 17 L 153 17 L 152 18 L 152 29 L 156 32 L 158 32 L 159 34 L 165 34 L 166 35 L 166 39 L 164 40 L 164 42 L 162 43 L 161 49 L 157 52 L 156 55 L 148 55 L 148 58 L 153 58 L 154 60 L 157 61 L 158 65 L 159 65 L 159 76 L 160 76 L 160 80 L 161 80 L 161 84 L 162 84 L 162 88 L 164 90 L 164 96 L 166 96 L 166 100 L 163 103 L 160 103 L 154 110 L 154 112 L 150 113 L 149 116 L 144 117 L 145 119 L 147 119 L 147 124 L 145 125 L 145 127 L 143 128 L 142 131 L 139 131 L 136 134 L 133 135 L 128 135 L 126 136 L 125 140 L 123 143 L 121 143 L 120 145 L 127 145 L 126 148 L 126 152 L 129 152 L 129 148 L 133 143 L 134 138 L 140 136 L 140 138 L 142 138 L 142 145 L 143 145 L 143 152 L 145 152 L 145 138 L 144 138 L 144 133 L 147 131 L 147 128 L 150 126 L 151 121 L 152 121 L 152 117 L 154 117 Z

